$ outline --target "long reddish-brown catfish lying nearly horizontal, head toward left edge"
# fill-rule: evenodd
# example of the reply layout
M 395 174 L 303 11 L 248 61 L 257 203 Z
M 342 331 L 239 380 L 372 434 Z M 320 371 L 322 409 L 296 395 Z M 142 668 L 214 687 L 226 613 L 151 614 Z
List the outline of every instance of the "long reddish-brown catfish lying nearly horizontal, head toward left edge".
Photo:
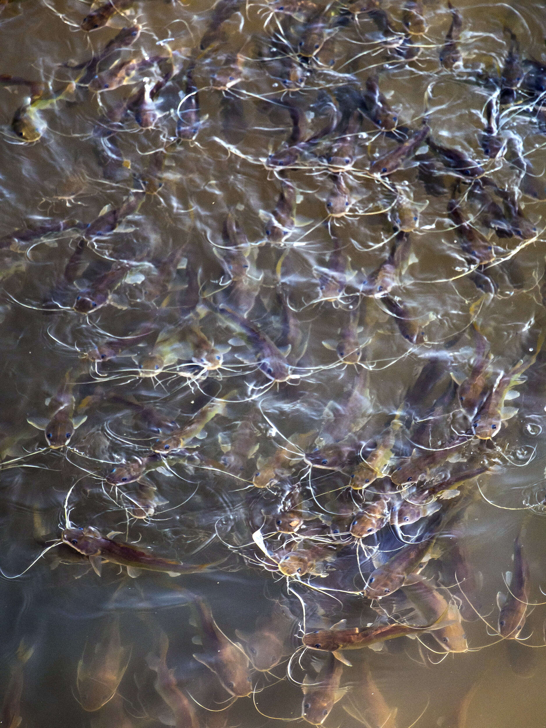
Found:
M 65 529 L 61 534 L 61 539 L 63 543 L 89 557 L 90 564 L 98 576 L 100 576 L 103 561 L 126 566 L 127 575 L 130 577 L 140 576 L 141 571 L 163 571 L 170 577 L 179 577 L 181 574 L 196 574 L 198 571 L 205 571 L 208 566 L 213 566 L 211 563 L 193 565 L 159 558 L 159 556 L 141 551 L 131 544 L 113 541 L 108 536 L 101 536 L 100 532 L 92 526 L 88 526 L 87 529 Z

